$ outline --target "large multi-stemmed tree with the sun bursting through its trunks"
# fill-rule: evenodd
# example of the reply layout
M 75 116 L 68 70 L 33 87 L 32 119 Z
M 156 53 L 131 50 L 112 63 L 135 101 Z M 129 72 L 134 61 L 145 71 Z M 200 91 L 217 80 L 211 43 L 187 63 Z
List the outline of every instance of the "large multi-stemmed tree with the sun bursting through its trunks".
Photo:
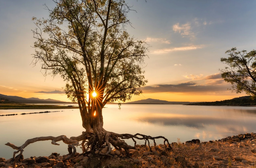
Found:
M 140 87 L 147 82 L 141 69 L 146 43 L 130 37 L 125 29 L 130 24 L 130 6 L 123 0 L 56 0 L 55 4 L 54 9 L 47 8 L 49 19 L 32 18 L 37 26 L 33 30 L 37 40 L 33 63 L 41 64 L 44 75 L 60 74 L 67 82 L 68 98 L 78 102 L 85 132 L 70 141 L 82 141 L 83 152 L 108 146 L 108 152 L 100 154 L 109 155 L 111 144 L 129 155 L 128 149 L 135 147 L 120 138 L 132 138 L 135 145 L 135 138 L 148 144 L 149 139 L 164 138 L 103 129 L 104 105 L 130 100 L 142 93 Z M 166 138 L 164 142 L 171 149 Z

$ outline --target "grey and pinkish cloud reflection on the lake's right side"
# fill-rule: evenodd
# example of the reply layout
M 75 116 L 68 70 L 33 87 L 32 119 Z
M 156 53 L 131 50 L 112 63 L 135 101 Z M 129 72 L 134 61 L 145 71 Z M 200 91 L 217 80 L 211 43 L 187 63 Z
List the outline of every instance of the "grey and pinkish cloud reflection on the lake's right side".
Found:
M 140 117 L 136 119 L 139 122 L 146 122 L 147 124 L 155 124 L 158 126 L 174 126 L 174 127 L 188 127 L 197 129 L 194 134 L 195 138 L 217 138 L 224 136 L 232 136 L 235 134 L 242 134 L 246 132 L 255 132 L 256 122 L 255 117 L 241 117 L 237 116 L 229 118 L 215 118 L 215 117 L 200 117 L 188 115 L 186 117 Z M 182 131 L 182 130 L 181 130 Z

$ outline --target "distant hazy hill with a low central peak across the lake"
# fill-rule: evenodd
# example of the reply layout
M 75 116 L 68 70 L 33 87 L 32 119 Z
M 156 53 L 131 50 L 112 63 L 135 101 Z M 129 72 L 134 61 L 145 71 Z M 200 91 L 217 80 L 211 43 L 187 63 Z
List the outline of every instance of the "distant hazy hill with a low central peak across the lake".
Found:
M 189 104 L 189 103 L 197 103 L 197 102 L 188 102 L 188 101 L 165 101 L 158 99 L 143 99 L 138 101 L 127 102 L 125 104 Z

